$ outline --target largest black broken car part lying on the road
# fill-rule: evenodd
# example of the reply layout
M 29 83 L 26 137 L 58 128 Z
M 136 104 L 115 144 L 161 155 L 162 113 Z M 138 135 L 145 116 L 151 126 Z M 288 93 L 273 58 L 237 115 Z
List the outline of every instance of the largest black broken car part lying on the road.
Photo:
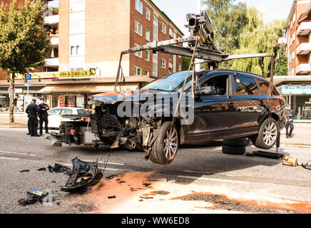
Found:
M 96 185 L 103 178 L 102 170 L 98 169 L 98 162 L 83 162 L 78 157 L 72 160 L 73 168 L 71 175 L 64 187 L 63 192 L 78 192 L 86 187 Z

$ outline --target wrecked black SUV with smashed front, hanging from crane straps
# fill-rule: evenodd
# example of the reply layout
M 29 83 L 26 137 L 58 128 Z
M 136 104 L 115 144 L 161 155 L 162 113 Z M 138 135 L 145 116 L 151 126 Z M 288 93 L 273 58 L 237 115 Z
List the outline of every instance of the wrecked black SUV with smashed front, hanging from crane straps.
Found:
M 186 73 L 160 77 L 141 88 L 139 94 L 179 96 Z M 140 104 L 142 99 L 133 91 L 113 92 L 93 96 L 96 110 L 91 115 L 92 132 L 111 148 L 143 150 L 146 159 L 161 165 L 173 162 L 178 147 L 187 143 L 250 138 L 262 149 L 275 145 L 277 134 L 285 125 L 285 100 L 275 86 L 270 96 L 269 81 L 261 76 L 228 70 L 200 71 L 197 74 L 193 123 L 183 124 L 185 116 L 178 114 L 172 124 L 171 108 L 169 115 L 160 117 L 120 116 L 120 98 Z M 192 88 L 192 78 L 190 72 L 185 83 L 186 96 Z M 170 102 L 172 105 L 174 103 Z

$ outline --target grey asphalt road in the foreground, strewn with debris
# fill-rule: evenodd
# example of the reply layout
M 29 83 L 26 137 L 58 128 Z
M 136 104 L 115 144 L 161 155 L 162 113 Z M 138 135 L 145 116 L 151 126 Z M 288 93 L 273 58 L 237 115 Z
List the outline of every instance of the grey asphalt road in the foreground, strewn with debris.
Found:
M 253 151 L 256 148 L 250 146 L 247 150 Z M 311 160 L 311 147 L 308 146 L 282 145 L 280 152 L 297 157 L 300 162 Z M 128 198 L 131 197 L 133 213 L 311 212 L 310 170 L 281 165 L 280 160 L 264 157 L 225 155 L 221 151 L 220 142 L 185 145 L 178 150 L 171 165 L 163 166 L 146 161 L 142 152 L 111 151 L 107 147 L 94 150 L 93 147 L 83 145 L 52 147 L 44 138 L 26 135 L 26 129 L 0 129 L 0 213 L 128 212 L 128 199 L 118 198 L 117 191 L 115 194 L 118 199 L 109 199 L 109 208 L 105 209 L 96 199 L 101 194 L 92 195 L 94 189 L 80 194 L 61 192 L 61 186 L 68 180 L 68 175 L 48 170 L 38 171 L 41 167 L 53 166 L 55 163 L 70 165 L 74 157 L 88 161 L 98 159 L 99 167 L 106 166 L 104 177 L 121 174 L 120 178 L 115 177 L 113 180 L 103 179 L 103 185 L 107 183 L 107 186 L 116 186 L 121 192 L 121 184 L 116 181 L 122 177 L 126 180 L 124 173 L 141 174 L 138 176 L 149 173 L 143 181 L 152 182 L 156 187 L 131 189 L 136 194 L 128 195 Z M 20 172 L 22 170 L 29 172 Z M 130 182 L 135 178 L 136 176 L 128 176 L 128 185 L 123 185 L 124 191 L 126 187 L 131 187 Z M 149 201 L 146 197 L 140 197 L 141 194 L 159 190 L 160 187 L 160 190 L 170 194 L 160 198 L 153 196 Z M 30 190 L 51 190 L 53 204 L 44 206 L 37 203 L 26 207 L 18 204 L 18 200 L 24 198 Z M 113 193 L 113 187 L 110 190 Z M 105 186 L 101 189 L 105 197 L 105 194 L 111 194 L 104 191 Z M 89 197 L 90 195 L 93 197 Z M 172 205 L 170 200 L 175 200 L 173 206 L 166 207 L 165 205 Z M 191 204 L 186 205 L 186 202 Z M 178 207 L 179 210 L 176 210 Z

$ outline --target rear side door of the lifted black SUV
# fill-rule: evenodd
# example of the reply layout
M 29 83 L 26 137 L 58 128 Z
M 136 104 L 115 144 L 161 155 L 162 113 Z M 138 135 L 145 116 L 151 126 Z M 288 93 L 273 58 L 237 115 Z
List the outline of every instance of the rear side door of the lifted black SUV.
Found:
M 235 94 L 234 94 L 235 93 Z M 262 96 L 255 77 L 243 74 L 233 78 L 233 95 L 229 107 L 234 111 L 235 128 L 245 130 L 245 133 L 257 132 L 262 113 Z

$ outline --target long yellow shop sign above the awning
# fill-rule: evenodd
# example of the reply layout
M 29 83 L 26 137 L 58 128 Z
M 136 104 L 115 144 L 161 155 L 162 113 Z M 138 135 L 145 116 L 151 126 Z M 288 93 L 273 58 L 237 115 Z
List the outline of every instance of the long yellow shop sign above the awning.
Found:
M 51 78 L 71 78 L 71 77 L 91 77 L 96 75 L 96 70 L 90 69 L 89 71 L 63 71 L 63 72 L 39 72 L 30 73 L 31 79 L 51 79 Z M 16 75 L 16 79 L 24 79 L 25 76 L 21 74 Z

